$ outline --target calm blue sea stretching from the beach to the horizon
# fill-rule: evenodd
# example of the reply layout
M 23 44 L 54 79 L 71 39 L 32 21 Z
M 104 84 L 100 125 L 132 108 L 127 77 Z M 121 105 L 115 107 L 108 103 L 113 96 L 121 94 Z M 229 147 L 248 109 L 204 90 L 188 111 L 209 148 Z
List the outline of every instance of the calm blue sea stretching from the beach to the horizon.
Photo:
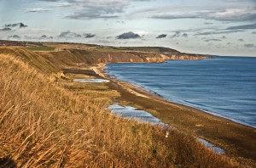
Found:
M 256 58 L 108 64 L 106 72 L 174 103 L 256 128 Z

